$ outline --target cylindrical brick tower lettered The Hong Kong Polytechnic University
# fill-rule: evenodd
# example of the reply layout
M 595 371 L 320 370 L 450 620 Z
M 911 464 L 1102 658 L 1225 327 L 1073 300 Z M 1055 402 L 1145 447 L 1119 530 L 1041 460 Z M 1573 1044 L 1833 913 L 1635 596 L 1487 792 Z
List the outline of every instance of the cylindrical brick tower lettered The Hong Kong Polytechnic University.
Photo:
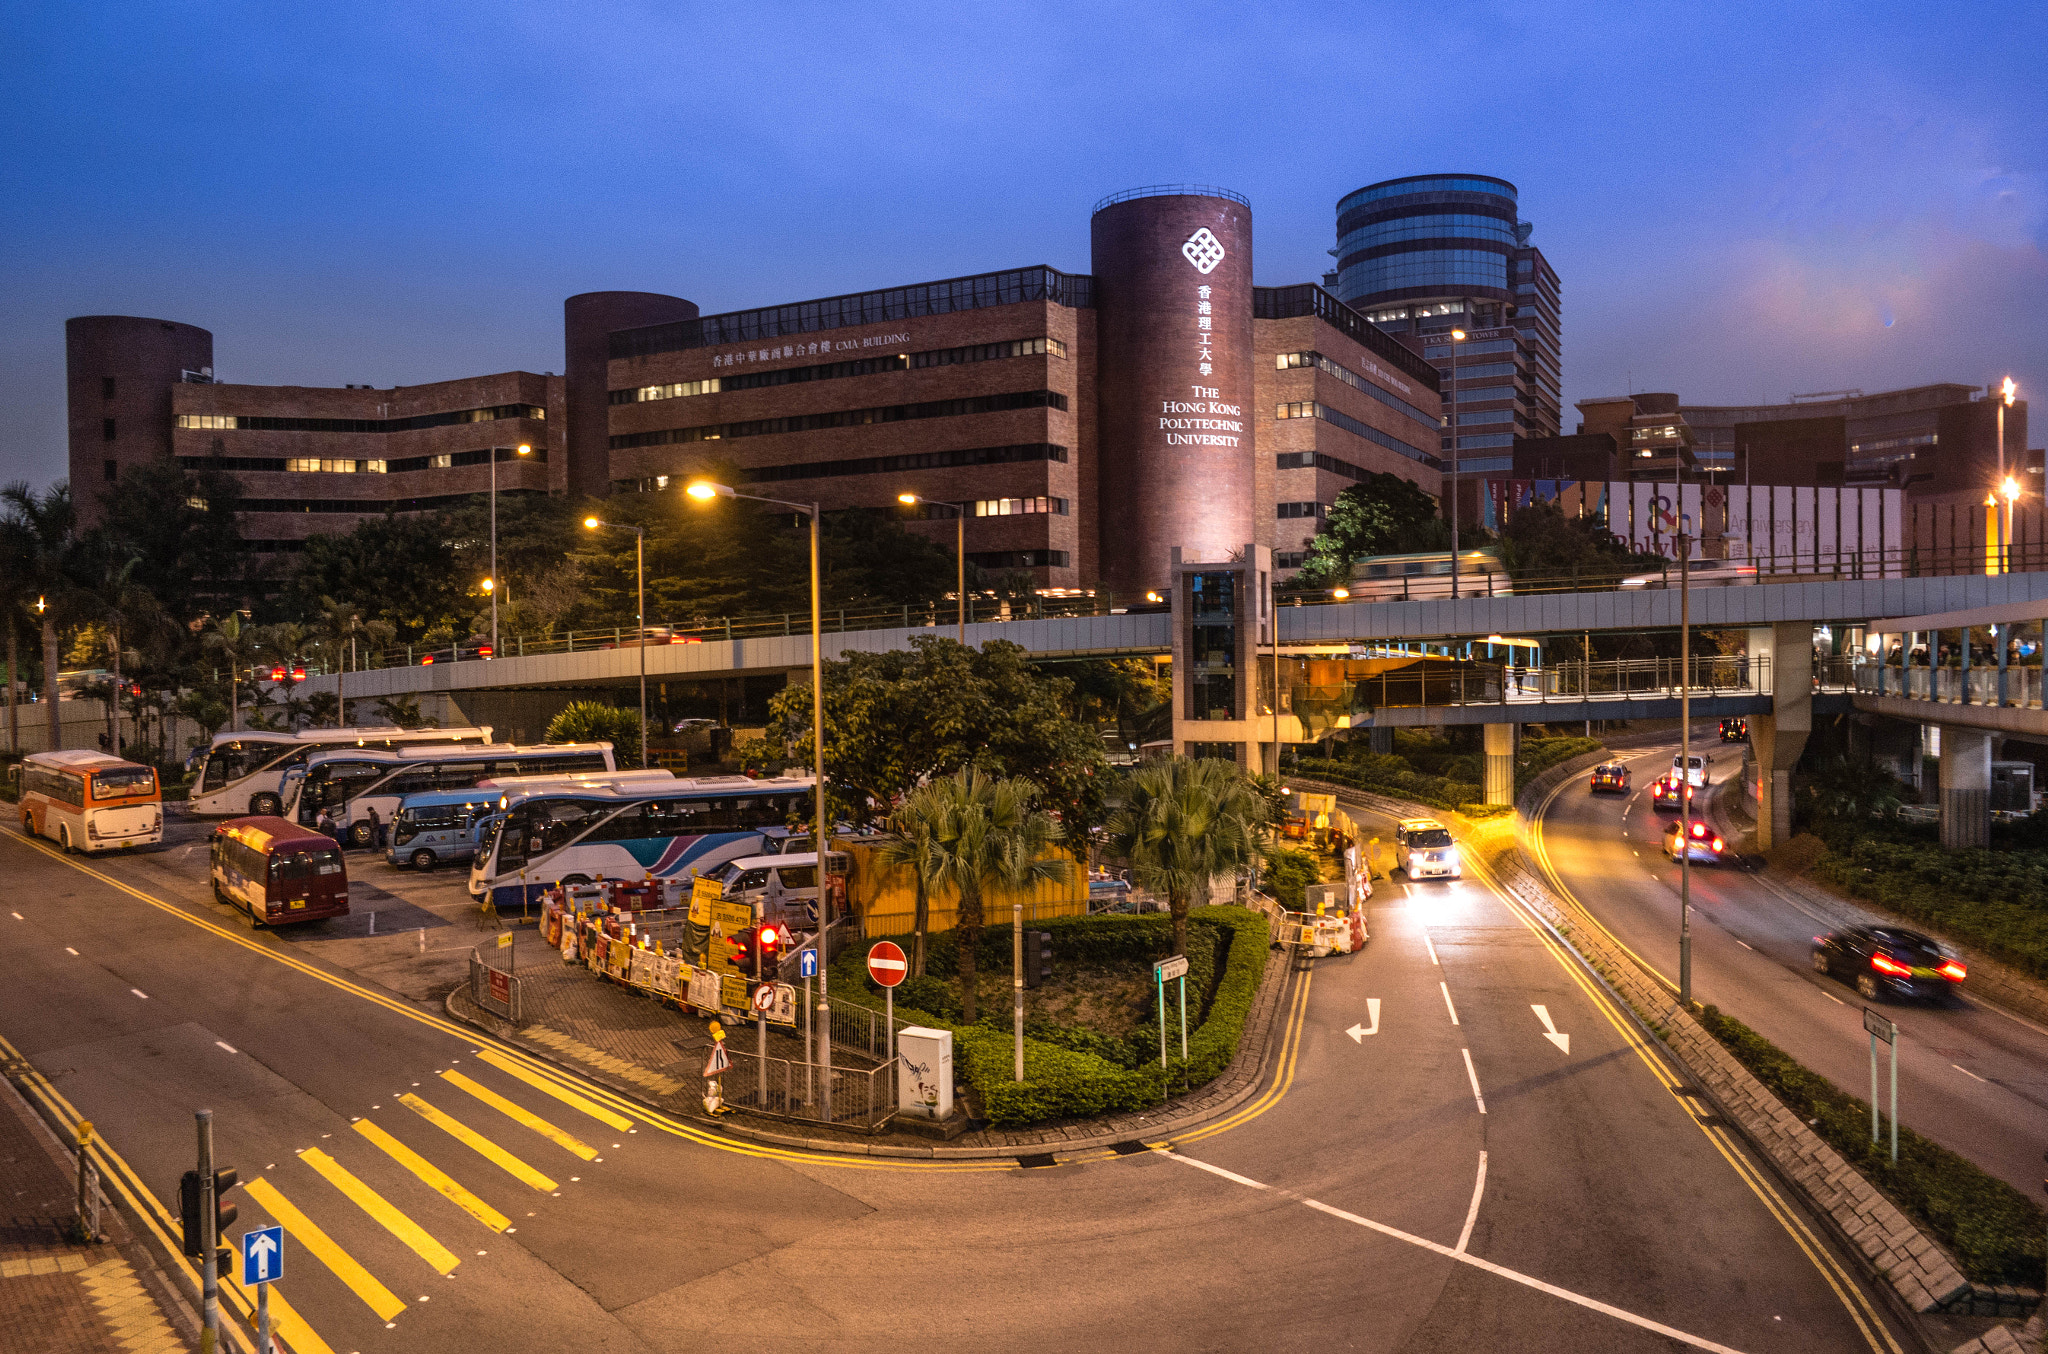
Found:
M 1116 193 L 1090 223 L 1102 582 L 1165 590 L 1169 551 L 1255 539 L 1251 203 L 1176 184 Z

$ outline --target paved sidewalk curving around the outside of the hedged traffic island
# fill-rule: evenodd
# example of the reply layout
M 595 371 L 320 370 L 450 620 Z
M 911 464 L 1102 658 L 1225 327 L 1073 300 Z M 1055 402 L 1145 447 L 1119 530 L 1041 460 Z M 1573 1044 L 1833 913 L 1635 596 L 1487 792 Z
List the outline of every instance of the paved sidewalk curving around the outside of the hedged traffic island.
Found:
M 1139 1139 L 1157 1143 L 1221 1118 L 1257 1092 L 1278 1022 L 1280 993 L 1290 985 L 1288 950 L 1270 950 L 1237 1057 L 1223 1075 L 1186 1096 L 1141 1114 L 1053 1120 L 1032 1129 L 985 1127 L 940 1143 L 920 1133 L 854 1133 L 743 1110 L 711 1118 L 700 1100 L 705 1086 L 700 1071 L 711 1049 L 702 1016 L 686 1016 L 582 965 L 553 959 L 530 969 L 522 967 L 518 977 L 520 1024 L 481 1010 L 471 1002 L 467 983 L 449 993 L 449 1014 L 657 1110 L 719 1133 L 811 1151 L 893 1157 L 1004 1157 L 1110 1147 Z M 743 1049 L 754 1047 L 752 1028 L 735 1030 L 733 1039 Z M 778 1043 L 786 1043 L 788 1051 L 784 1053 Z M 801 1057 L 801 1043 L 776 1034 L 770 1039 L 770 1053 Z M 842 1057 L 848 1055 L 834 1053 L 834 1059 Z

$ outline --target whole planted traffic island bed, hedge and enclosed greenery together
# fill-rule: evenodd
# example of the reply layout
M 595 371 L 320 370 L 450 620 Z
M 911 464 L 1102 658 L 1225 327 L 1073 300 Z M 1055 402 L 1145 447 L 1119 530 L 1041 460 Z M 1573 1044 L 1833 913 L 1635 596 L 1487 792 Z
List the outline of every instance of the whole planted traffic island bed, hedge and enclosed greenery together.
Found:
M 954 1071 L 979 1116 L 999 1129 L 1049 1118 L 1090 1118 L 1163 1104 L 1223 1073 L 1237 1055 L 1260 977 L 1266 918 L 1245 907 L 1188 914 L 1188 1057 L 1180 1057 L 1180 1006 L 1167 993 L 1167 1065 L 1159 1065 L 1159 1014 L 1151 965 L 1174 948 L 1171 918 L 1098 916 L 1028 924 L 1053 936 L 1053 977 L 1024 993 L 1024 1080 L 1016 1082 L 1010 1000 L 1010 928 L 981 934 L 981 1020 L 958 1024 L 954 932 L 928 936 L 926 977 L 897 987 L 899 1020 L 952 1030 Z M 879 940 L 881 936 L 877 936 Z M 907 936 L 897 944 L 911 953 Z M 834 1004 L 883 1008 L 860 953 L 831 967 Z M 944 973 L 946 977 L 938 977 Z

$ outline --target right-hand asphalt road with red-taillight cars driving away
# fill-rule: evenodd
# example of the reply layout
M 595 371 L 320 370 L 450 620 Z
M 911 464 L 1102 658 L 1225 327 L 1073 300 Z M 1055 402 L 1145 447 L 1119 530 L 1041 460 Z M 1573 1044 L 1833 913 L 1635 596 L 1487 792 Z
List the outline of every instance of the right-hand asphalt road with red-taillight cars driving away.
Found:
M 1712 725 L 1708 725 L 1710 729 Z M 1741 748 L 1716 754 L 1716 782 L 1741 772 Z M 1696 742 L 1696 746 L 1700 746 Z M 1669 770 L 1677 742 L 1626 754 L 1632 791 L 1591 795 L 1569 780 L 1538 815 L 1554 877 L 1667 981 L 1677 979 L 1677 864 L 1659 846 L 1671 815 L 1649 785 Z M 1845 981 L 1812 973 L 1812 938 L 1833 928 L 1767 873 L 1692 869 L 1692 987 L 1794 1059 L 1855 1096 L 1870 1096 L 1866 1002 Z M 1968 989 L 1966 989 L 1968 991 Z M 2048 1149 L 2048 1030 L 1970 1000 L 1950 1006 L 1878 1002 L 1898 1024 L 1898 1120 L 1952 1147 L 2030 1196 Z M 1880 1053 L 1880 1098 L 1890 1065 Z

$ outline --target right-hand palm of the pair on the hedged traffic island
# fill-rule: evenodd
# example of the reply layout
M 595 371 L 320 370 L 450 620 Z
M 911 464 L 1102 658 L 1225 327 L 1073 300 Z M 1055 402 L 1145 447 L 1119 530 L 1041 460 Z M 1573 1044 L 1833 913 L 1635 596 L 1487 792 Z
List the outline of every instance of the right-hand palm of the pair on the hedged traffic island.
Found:
M 1188 953 L 1188 907 L 1196 895 L 1206 897 L 1210 879 L 1257 858 L 1266 815 L 1266 799 L 1231 762 L 1161 758 L 1124 780 L 1110 842 L 1141 885 L 1165 893 L 1176 955 Z

